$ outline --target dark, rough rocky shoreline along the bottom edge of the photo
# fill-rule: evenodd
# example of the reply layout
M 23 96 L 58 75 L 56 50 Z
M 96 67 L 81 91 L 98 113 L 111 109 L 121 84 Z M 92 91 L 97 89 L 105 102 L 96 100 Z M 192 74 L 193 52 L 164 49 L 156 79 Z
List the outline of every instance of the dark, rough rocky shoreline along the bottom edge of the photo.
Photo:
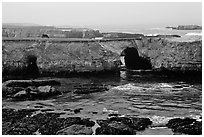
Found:
M 2 109 L 3 135 L 135 135 L 152 125 L 149 118 L 111 114 L 106 120 L 66 117 L 40 109 Z M 202 121 L 174 118 L 166 128 L 174 134 L 201 135 Z

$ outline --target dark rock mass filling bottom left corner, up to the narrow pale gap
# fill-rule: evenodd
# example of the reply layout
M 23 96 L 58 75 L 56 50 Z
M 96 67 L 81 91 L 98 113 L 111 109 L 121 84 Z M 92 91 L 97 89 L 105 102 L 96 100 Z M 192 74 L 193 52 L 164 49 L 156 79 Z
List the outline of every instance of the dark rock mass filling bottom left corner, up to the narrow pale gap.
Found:
M 39 113 L 36 110 L 2 110 L 3 135 L 91 134 L 95 122 L 80 117 L 60 118 L 62 113 Z

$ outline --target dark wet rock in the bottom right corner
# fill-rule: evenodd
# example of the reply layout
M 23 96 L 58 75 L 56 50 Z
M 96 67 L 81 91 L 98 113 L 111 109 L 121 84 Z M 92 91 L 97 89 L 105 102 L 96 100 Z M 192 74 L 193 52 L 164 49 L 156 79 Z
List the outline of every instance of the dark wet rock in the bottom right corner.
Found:
M 183 133 L 188 135 L 201 135 L 202 122 L 191 118 L 175 118 L 168 121 L 166 124 L 175 133 Z

